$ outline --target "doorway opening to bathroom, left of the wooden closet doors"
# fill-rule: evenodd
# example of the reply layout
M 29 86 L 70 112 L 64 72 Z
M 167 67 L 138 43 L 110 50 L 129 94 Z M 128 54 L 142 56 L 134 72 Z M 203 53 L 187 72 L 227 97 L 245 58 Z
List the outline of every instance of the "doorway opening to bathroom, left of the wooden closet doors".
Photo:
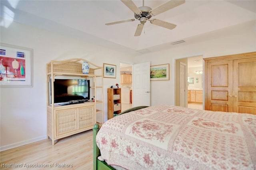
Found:
M 204 109 L 202 55 L 175 60 L 175 105 Z

